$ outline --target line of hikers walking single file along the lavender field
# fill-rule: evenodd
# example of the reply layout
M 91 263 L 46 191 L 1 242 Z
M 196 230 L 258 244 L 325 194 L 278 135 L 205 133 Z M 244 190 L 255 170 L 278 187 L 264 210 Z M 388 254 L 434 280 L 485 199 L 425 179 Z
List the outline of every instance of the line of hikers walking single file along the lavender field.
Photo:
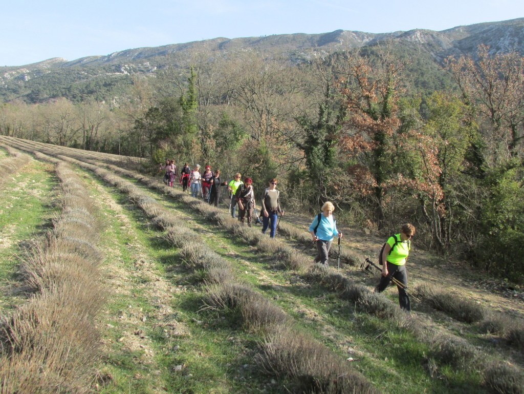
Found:
M 216 169 L 213 172 L 211 166 L 206 165 L 204 171 L 201 172 L 200 168 L 199 164 L 195 164 L 193 169 L 190 168 L 188 163 L 184 164 L 179 178 L 183 191 L 186 191 L 189 187 L 191 196 L 202 197 L 209 204 L 217 207 L 219 206 L 221 195 L 220 186 L 227 186 L 231 198 L 231 216 L 236 216 L 238 206 L 238 220 L 242 223 L 246 221 L 247 226 L 250 227 L 255 214 L 257 222 L 261 221 L 262 223 L 262 232 L 265 234 L 269 229 L 270 237 L 275 238 L 279 215 L 282 217 L 284 214 L 280 206 L 280 191 L 277 190 L 278 180 L 276 178 L 269 180 L 268 187 L 264 190 L 261 198 L 260 214 L 258 215 L 253 180 L 251 178 L 247 177 L 242 180 L 242 175 L 236 173 L 234 179 L 227 183 L 222 182 L 220 169 Z M 166 160 L 165 165 L 160 167 L 160 171 L 162 169 L 165 171 L 164 183 L 172 187 L 178 178 L 177 166 L 173 160 Z M 329 262 L 329 252 L 333 239 L 338 237 L 340 242 L 343 236 L 342 232 L 339 232 L 336 228 L 336 220 L 333 216 L 334 210 L 335 206 L 333 203 L 326 201 L 321 208 L 320 214 L 315 216 L 309 226 L 312 242 L 317 250 L 314 261 L 326 266 Z M 410 311 L 411 307 L 407 292 L 408 275 L 406 262 L 411 248 L 410 241 L 415 231 L 416 229 L 411 223 L 406 223 L 401 227 L 399 233 L 387 239 L 380 251 L 379 261 L 383 267 L 381 268 L 380 281 L 375 287 L 375 291 L 380 293 L 393 281 L 398 288 L 400 308 L 407 312 Z

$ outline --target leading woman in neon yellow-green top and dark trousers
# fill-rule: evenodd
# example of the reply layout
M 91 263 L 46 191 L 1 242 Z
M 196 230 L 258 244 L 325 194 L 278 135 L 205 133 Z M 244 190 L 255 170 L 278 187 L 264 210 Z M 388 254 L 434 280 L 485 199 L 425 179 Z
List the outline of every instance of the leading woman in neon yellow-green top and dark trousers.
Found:
M 408 286 L 408 272 L 406 271 L 406 262 L 408 261 L 409 250 L 411 248 L 411 238 L 415 235 L 415 226 L 411 223 L 406 223 L 400 229 L 399 234 L 395 234 L 388 238 L 384 250 L 382 252 L 382 276 L 375 291 L 377 293 L 383 292 L 392 278 L 402 283 L 402 286 L 397 285 L 398 302 L 400 308 L 409 312 L 411 310 L 409 296 L 404 287 Z

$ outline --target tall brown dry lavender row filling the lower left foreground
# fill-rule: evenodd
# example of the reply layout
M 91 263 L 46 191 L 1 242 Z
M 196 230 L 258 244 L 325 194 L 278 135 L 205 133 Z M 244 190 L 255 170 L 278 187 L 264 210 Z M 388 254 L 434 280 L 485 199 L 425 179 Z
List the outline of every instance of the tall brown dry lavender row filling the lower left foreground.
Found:
M 96 249 L 101 225 L 80 178 L 57 165 L 63 190 L 54 229 L 23 267 L 29 301 L 2 317 L 2 393 L 90 392 L 99 358 L 95 316 L 104 302 Z

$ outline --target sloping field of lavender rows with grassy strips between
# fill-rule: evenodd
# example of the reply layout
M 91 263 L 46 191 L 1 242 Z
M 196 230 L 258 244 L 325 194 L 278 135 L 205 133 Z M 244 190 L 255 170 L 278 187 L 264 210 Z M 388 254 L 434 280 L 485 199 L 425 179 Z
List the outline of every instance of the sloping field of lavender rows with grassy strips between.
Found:
M 359 269 L 383 237 L 339 223 L 324 268 L 310 217 L 270 239 L 139 159 L 0 144 L 2 393 L 524 392 L 523 293 L 416 239 L 406 314 Z

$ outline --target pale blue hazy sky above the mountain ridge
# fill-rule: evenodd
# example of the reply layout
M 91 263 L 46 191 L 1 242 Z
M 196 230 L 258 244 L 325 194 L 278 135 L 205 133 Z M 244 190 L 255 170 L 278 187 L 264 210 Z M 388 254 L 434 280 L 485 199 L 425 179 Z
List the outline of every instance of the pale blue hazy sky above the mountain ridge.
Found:
M 0 66 L 19 66 L 216 37 L 445 30 L 524 17 L 524 1 L 12 0 L 0 10 Z

